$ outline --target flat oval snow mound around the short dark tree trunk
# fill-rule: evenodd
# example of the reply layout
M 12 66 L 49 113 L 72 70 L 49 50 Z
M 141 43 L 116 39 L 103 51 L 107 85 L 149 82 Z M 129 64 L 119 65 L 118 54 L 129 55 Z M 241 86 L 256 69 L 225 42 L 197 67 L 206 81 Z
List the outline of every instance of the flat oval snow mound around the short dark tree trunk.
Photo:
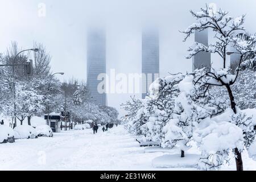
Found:
M 163 155 L 152 160 L 154 168 L 196 168 L 200 155 L 187 154 L 181 158 L 180 154 Z

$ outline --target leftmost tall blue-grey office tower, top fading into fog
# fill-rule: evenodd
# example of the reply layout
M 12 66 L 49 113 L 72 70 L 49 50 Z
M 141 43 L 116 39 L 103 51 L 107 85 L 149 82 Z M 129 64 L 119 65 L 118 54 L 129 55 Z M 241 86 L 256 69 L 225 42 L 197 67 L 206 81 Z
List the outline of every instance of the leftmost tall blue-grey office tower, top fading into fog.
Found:
M 106 85 L 98 80 L 98 75 L 106 73 L 106 35 L 105 30 L 92 29 L 87 32 L 87 86 L 92 99 L 101 106 L 106 105 Z M 100 89 L 98 89 L 98 85 Z

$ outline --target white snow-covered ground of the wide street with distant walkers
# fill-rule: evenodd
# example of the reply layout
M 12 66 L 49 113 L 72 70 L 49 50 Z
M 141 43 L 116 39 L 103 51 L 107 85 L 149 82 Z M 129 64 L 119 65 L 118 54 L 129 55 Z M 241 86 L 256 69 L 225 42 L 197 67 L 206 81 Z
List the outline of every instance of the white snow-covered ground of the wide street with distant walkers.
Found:
M 114 127 L 93 135 L 92 129 L 55 133 L 53 138 L 20 139 L 0 145 L 2 170 L 162 170 L 152 167 L 152 160 L 166 152 L 144 152 L 133 135 Z M 190 152 L 195 152 L 191 149 Z M 256 162 L 243 156 L 245 169 L 256 169 Z M 234 160 L 230 160 L 234 170 Z M 164 168 L 164 170 L 195 170 Z

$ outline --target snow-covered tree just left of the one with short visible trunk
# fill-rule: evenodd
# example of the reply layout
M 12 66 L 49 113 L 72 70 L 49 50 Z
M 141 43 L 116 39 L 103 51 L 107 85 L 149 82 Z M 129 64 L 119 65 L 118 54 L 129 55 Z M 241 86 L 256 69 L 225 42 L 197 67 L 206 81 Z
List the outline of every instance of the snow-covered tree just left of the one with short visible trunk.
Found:
M 162 147 L 174 147 L 174 141 L 176 143 L 175 139 L 170 139 L 168 126 L 170 123 L 174 123 L 174 120 L 171 119 L 177 113 L 174 110 L 175 99 L 180 93 L 178 84 L 183 78 L 182 74 L 158 78 L 151 84 L 149 96 L 145 99 L 150 117 L 148 122 L 143 125 L 144 134 L 148 139 L 159 142 Z M 179 137 L 177 136 L 177 138 Z

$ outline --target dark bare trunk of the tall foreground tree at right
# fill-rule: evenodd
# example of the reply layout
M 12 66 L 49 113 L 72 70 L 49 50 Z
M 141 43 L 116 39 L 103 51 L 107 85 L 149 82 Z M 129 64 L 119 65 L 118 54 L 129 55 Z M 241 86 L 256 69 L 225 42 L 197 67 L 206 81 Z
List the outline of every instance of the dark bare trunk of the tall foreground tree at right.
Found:
M 233 96 L 232 90 L 230 88 L 230 85 L 226 85 L 226 89 L 228 90 L 228 93 L 229 93 L 231 109 L 234 111 L 235 114 L 237 114 L 236 102 L 234 101 L 234 96 Z M 238 148 L 235 148 L 234 152 L 236 155 L 237 171 L 243 171 L 243 160 L 242 160 L 241 152 L 238 150 Z

